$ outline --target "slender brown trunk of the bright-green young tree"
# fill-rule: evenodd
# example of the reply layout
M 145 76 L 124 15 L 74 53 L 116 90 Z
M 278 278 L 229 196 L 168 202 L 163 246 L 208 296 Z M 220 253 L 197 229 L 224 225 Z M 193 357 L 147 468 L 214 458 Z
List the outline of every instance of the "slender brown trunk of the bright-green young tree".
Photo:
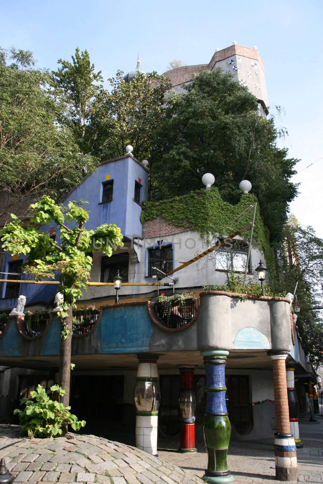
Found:
M 71 380 L 71 354 L 72 354 L 72 325 L 73 325 L 73 305 L 70 304 L 68 308 L 68 315 L 63 319 L 62 330 L 69 331 L 66 338 L 61 339 L 60 351 L 60 385 L 65 390 L 65 395 L 62 397 L 64 407 L 69 405 L 70 401 L 70 380 Z

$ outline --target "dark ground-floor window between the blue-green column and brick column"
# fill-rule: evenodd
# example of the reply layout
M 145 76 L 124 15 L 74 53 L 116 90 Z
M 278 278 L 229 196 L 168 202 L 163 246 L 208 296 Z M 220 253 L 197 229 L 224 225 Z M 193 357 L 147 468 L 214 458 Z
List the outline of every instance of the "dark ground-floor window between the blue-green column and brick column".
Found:
M 252 407 L 249 398 L 249 377 L 242 375 L 228 375 L 226 377 L 228 388 L 227 408 L 229 418 L 236 431 L 247 434 L 252 425 Z M 226 396 L 227 398 L 227 396 Z

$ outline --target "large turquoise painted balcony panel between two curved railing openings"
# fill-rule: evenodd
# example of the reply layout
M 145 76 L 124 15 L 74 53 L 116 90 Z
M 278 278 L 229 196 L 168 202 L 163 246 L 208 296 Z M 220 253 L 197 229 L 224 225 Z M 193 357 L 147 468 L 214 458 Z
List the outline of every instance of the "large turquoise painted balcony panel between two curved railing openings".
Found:
M 152 335 L 146 305 L 106 309 L 98 326 L 100 353 L 148 351 Z

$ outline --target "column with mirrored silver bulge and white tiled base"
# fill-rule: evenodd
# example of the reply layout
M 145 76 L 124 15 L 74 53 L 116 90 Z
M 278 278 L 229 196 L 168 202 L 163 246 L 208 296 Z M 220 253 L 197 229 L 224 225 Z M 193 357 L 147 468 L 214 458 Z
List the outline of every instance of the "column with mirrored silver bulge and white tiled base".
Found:
M 138 355 L 135 388 L 136 447 L 157 456 L 157 423 L 160 388 L 157 355 Z

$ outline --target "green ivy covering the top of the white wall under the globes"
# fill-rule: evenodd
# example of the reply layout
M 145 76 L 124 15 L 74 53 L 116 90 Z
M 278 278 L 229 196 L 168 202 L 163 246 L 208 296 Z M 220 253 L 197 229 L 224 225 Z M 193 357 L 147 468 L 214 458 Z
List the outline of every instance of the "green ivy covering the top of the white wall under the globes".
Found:
M 183 197 L 173 197 L 159 202 L 144 201 L 140 219 L 141 222 L 145 222 L 160 216 L 175 227 L 185 227 L 200 232 L 200 237 L 209 241 L 217 234 L 228 235 L 251 222 L 252 209 L 230 225 L 232 220 L 255 201 L 257 200 L 254 195 L 243 194 L 237 205 L 231 205 L 222 200 L 216 187 L 212 187 L 211 190 L 196 190 Z M 229 226 L 230 228 L 227 228 Z M 246 229 L 241 236 L 248 241 L 250 229 Z M 271 272 L 273 256 L 269 244 L 269 232 L 261 220 L 258 203 L 252 243 L 264 253 L 267 268 Z

